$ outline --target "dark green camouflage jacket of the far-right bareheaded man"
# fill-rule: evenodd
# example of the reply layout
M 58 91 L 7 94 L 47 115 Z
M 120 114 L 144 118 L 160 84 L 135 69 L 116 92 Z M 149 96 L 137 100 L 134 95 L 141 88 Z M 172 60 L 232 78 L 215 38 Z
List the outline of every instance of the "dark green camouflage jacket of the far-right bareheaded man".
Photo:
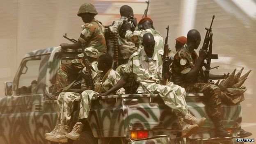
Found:
M 185 44 L 180 51 L 176 53 L 174 56 L 174 60 L 172 62 L 171 71 L 172 71 L 172 81 L 176 85 L 180 85 L 181 87 L 187 87 L 192 82 L 187 82 L 185 80 L 184 75 L 190 72 L 191 69 L 194 68 L 195 62 L 198 59 L 198 55 L 196 51 L 190 51 Z M 195 77 L 194 82 L 198 81 L 198 77 Z

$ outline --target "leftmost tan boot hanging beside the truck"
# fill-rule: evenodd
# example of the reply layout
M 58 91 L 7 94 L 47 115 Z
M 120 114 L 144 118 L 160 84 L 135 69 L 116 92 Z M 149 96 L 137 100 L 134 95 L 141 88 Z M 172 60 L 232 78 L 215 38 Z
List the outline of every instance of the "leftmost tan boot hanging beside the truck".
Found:
M 55 135 L 46 137 L 47 140 L 52 141 L 52 142 L 62 142 L 66 143 L 68 142 L 68 139 L 65 137 L 66 133 L 68 133 L 69 126 L 67 125 L 62 125 L 60 130 L 55 133 Z

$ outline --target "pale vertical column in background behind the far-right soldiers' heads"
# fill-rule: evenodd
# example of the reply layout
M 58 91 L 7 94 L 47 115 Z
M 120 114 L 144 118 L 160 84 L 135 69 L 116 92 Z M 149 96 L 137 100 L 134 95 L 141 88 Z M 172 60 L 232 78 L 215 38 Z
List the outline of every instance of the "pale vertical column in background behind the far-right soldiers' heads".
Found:
M 186 36 L 187 32 L 194 28 L 196 12 L 197 0 L 181 0 L 180 35 Z

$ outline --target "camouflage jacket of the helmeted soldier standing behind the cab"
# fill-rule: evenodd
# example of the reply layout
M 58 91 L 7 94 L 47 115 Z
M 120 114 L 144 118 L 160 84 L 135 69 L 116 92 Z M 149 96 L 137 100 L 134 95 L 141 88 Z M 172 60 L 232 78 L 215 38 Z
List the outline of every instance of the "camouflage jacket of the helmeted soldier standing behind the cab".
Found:
M 99 51 L 98 54 L 102 55 L 107 51 L 104 33 L 104 26 L 100 22 L 93 19 L 90 23 L 85 23 L 83 25 L 83 30 L 80 37 L 87 42 L 86 47 L 96 48 Z

